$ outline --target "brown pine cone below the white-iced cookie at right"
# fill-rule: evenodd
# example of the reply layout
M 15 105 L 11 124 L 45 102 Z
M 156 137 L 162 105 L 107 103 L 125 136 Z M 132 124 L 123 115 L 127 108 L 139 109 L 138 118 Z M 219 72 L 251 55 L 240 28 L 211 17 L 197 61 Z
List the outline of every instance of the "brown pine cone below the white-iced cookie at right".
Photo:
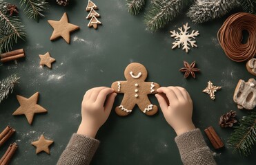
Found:
M 236 115 L 237 114 L 233 110 L 229 111 L 224 115 L 221 115 L 221 117 L 219 118 L 219 126 L 221 126 L 222 128 L 232 127 L 233 124 L 237 122 L 237 120 L 235 120 Z

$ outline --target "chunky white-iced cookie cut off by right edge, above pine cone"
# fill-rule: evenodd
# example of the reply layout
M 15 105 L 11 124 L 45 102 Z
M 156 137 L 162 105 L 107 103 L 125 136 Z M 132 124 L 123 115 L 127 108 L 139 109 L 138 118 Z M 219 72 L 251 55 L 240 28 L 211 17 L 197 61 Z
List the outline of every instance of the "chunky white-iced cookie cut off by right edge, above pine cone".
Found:
M 250 78 L 248 82 L 239 80 L 233 100 L 237 103 L 239 109 L 254 109 L 256 106 L 256 81 L 254 78 Z

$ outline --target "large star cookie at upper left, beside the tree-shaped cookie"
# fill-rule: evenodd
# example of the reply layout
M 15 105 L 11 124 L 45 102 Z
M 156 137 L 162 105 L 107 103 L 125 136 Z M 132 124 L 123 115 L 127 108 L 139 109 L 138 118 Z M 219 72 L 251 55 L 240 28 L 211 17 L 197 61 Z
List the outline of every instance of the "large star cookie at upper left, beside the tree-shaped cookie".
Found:
M 59 21 L 48 20 L 48 23 L 54 29 L 52 36 L 50 36 L 50 41 L 55 40 L 61 36 L 67 43 L 70 43 L 70 32 L 79 29 L 79 26 L 68 23 L 68 15 L 66 12 L 64 12 Z

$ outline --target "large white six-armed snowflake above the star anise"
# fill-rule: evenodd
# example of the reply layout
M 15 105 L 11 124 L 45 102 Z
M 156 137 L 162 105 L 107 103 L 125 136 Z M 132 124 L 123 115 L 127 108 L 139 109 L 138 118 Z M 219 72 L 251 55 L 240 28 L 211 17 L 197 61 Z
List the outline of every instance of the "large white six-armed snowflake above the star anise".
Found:
M 188 30 L 190 29 L 190 26 L 188 26 L 188 23 L 186 23 L 186 25 L 183 25 L 184 31 L 181 28 L 179 29 L 179 33 L 175 32 L 175 30 L 170 31 L 170 33 L 172 35 L 170 35 L 171 37 L 173 37 L 174 39 L 176 39 L 176 41 L 173 43 L 173 47 L 172 49 L 174 49 L 175 47 L 180 47 L 180 45 L 182 44 L 183 48 L 182 50 L 185 50 L 186 53 L 188 53 L 188 50 L 190 50 L 190 47 L 197 47 L 197 45 L 195 44 L 196 41 L 192 41 L 192 39 L 195 39 L 195 36 L 199 35 L 198 30 L 195 32 L 195 30 L 193 30 L 191 32 L 191 34 L 189 34 Z

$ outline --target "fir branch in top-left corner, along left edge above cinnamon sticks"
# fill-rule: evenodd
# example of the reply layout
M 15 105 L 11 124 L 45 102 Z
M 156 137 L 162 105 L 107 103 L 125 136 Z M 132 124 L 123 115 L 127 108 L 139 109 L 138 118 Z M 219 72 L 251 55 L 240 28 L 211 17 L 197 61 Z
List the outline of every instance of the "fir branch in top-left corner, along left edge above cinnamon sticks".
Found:
M 7 12 L 8 3 L 0 1 L 0 53 L 9 51 L 17 39 L 24 39 L 24 25 L 18 16 L 10 16 Z

